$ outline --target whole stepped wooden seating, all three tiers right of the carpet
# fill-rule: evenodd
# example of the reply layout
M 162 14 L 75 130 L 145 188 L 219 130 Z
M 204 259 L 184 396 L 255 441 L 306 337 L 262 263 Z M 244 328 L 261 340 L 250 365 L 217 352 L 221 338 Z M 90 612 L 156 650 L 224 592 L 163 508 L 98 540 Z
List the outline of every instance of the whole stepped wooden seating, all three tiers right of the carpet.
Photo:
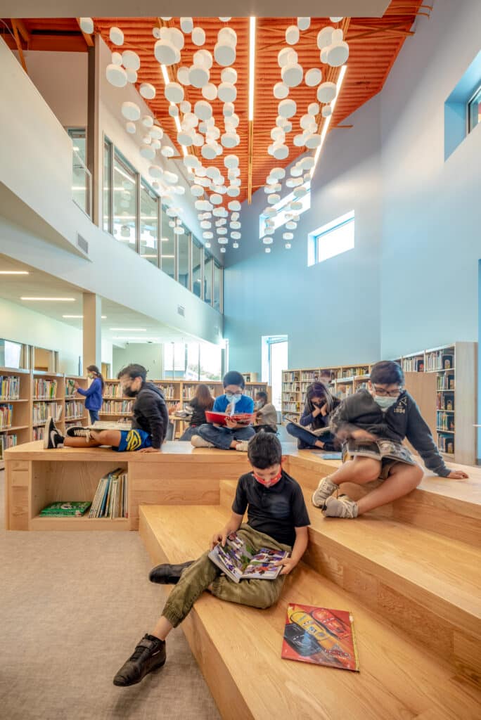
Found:
M 343 521 L 310 505 L 313 487 L 336 465 L 302 452 L 287 459 L 312 526 L 305 561 L 277 606 L 259 611 L 204 593 L 182 624 L 220 713 L 229 720 L 474 720 L 481 554 L 472 533 L 479 533 L 481 477 L 467 485 L 426 477 L 400 506 Z M 235 482 L 220 482 L 220 505 L 141 506 L 140 534 L 153 563 L 204 552 L 228 518 L 234 490 Z M 410 506 L 418 511 L 407 522 Z M 353 613 L 359 675 L 281 660 L 289 601 Z

